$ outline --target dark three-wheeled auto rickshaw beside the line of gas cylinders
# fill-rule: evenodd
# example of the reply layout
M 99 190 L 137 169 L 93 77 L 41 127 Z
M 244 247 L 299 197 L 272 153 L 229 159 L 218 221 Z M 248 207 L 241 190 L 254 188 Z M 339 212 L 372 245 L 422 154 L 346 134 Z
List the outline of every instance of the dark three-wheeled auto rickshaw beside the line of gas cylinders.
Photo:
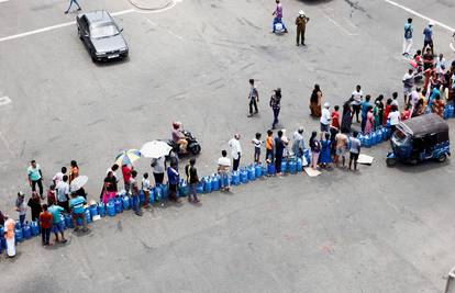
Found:
M 430 159 L 443 162 L 451 156 L 448 125 L 434 113 L 400 122 L 390 145 L 392 151 L 386 159 L 389 167 L 398 160 L 413 165 Z

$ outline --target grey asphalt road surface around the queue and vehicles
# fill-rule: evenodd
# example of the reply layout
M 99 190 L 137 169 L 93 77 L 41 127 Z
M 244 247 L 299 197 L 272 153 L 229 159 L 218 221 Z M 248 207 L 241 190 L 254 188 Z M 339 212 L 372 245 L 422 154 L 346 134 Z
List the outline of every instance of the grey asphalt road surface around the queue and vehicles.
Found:
M 397 0 L 398 1 L 398 0 Z M 450 1 L 414 5 L 454 27 Z M 74 20 L 65 1 L 0 3 L 0 38 Z M 82 2 L 85 10 L 131 9 L 126 1 Z M 412 7 L 413 5 L 413 7 Z M 293 19 L 311 18 L 307 47 L 295 45 Z M 309 117 L 318 82 L 324 101 L 341 104 L 355 84 L 374 97 L 400 91 L 407 70 L 402 25 L 410 14 L 386 1 L 286 1 L 288 35 L 270 33 L 273 1 L 184 0 L 157 13 L 124 13 L 129 60 L 93 65 L 71 25 L 0 42 L 0 204 L 12 211 L 25 169 L 36 159 L 48 181 L 76 159 L 98 198 L 114 156 L 170 135 L 180 120 L 200 139 L 201 173 L 213 172 L 221 149 L 270 126 L 270 91 L 282 89 L 280 124 L 291 134 Z M 426 21 L 414 18 L 414 47 Z M 451 53 L 451 33 L 435 27 L 435 47 Z M 247 115 L 249 78 L 258 80 L 259 115 Z M 454 121 L 450 121 L 451 127 Z M 452 137 L 453 131 L 451 131 Z M 358 173 L 285 177 L 131 213 L 69 235 L 43 249 L 37 239 L 0 258 L 5 292 L 441 292 L 455 264 L 452 224 L 455 168 L 424 164 L 387 168 L 382 144 Z M 146 170 L 148 161 L 137 164 Z M 147 170 L 149 171 L 149 170 Z M 52 278 L 51 278 L 52 277 Z M 27 282 L 24 282 L 26 280 Z

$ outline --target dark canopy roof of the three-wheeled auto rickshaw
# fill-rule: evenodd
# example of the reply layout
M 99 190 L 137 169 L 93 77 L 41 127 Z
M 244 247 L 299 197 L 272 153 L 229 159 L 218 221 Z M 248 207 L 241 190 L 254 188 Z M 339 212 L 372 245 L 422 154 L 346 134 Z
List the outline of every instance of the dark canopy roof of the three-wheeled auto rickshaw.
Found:
M 400 122 L 398 126 L 414 137 L 448 132 L 448 124 L 440 115 L 434 113 Z

